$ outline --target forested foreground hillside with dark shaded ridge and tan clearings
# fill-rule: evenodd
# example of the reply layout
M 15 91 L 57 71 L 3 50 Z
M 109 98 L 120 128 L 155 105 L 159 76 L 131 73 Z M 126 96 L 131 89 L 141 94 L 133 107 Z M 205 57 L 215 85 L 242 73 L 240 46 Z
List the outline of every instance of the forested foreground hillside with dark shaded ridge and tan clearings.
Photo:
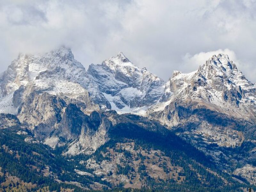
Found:
M 97 132 L 99 120 L 104 118 L 115 122 L 106 131 L 108 141 L 91 155 L 65 156 L 67 146 L 52 150 L 39 142 L 29 142 L 25 131 L 0 130 L 0 167 L 4 175 L 0 172 L 0 180 L 6 185 L 9 174 L 13 179 L 15 176 L 20 183 L 7 186 L 10 190 L 29 182 L 35 189 L 50 187 L 52 191 L 54 187 L 80 191 L 116 187 L 121 187 L 117 191 L 123 187 L 145 191 L 242 191 L 249 186 L 216 169 L 211 157 L 145 117 L 114 111 L 95 113 L 86 121 L 91 124 L 88 130 Z

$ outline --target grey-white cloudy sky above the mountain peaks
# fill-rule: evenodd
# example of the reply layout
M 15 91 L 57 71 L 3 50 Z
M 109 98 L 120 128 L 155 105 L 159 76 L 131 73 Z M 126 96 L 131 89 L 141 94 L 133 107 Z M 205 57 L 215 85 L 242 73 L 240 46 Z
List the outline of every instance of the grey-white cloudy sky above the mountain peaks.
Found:
M 85 68 L 119 51 L 167 80 L 226 53 L 256 82 L 256 0 L 0 0 L 0 71 L 66 45 Z

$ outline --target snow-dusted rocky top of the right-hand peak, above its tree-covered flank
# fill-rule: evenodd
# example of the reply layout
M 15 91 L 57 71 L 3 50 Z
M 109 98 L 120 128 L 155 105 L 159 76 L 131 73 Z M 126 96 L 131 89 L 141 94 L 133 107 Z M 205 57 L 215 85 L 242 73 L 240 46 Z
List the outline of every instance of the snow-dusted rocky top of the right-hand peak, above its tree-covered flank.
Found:
M 217 111 L 236 119 L 256 120 L 256 95 L 253 91 L 256 86 L 244 77 L 227 55 L 214 55 L 189 74 L 174 72 L 169 85 L 170 88 L 166 88 L 172 92 L 169 101 L 148 111 L 149 116 L 157 116 L 168 126 L 184 123 L 191 115 L 189 111 L 197 108 Z

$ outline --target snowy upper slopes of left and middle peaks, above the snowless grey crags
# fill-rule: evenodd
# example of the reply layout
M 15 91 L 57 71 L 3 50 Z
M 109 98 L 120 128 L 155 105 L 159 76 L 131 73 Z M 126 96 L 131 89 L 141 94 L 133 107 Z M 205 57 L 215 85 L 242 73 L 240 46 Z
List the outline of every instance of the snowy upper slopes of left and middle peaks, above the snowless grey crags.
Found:
M 164 90 L 162 79 L 136 67 L 121 52 L 101 65 L 90 65 L 86 72 L 65 47 L 44 55 L 20 54 L 1 75 L 0 84 L 0 112 L 11 114 L 17 114 L 23 97 L 31 92 L 82 102 L 84 112 L 100 108 L 145 112 Z

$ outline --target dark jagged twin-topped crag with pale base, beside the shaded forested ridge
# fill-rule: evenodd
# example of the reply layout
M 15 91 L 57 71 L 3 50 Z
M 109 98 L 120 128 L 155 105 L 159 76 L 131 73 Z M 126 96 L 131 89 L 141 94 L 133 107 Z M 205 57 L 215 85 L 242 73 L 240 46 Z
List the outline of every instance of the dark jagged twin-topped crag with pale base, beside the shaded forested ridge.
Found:
M 71 141 L 65 154 L 92 154 L 109 140 L 108 130 L 112 123 L 105 114 L 94 111 L 87 116 L 75 105 L 67 109 L 53 136 Z

